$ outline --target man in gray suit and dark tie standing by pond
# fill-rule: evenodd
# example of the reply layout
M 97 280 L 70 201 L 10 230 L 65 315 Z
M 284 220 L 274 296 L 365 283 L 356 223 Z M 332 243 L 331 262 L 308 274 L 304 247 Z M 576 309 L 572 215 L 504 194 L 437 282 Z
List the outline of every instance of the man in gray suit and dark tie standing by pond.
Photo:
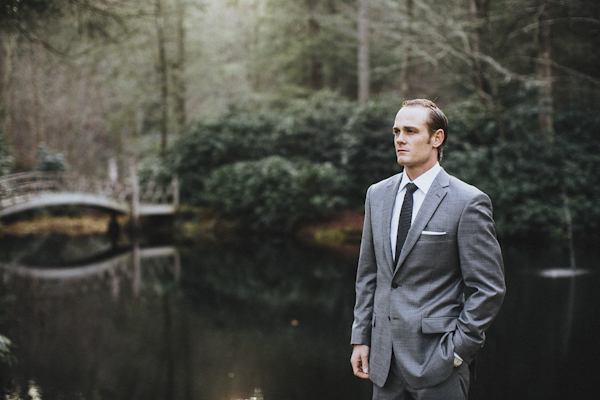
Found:
M 352 367 L 377 400 L 467 399 L 506 291 L 492 204 L 440 166 L 448 120 L 435 103 L 404 102 L 393 130 L 404 171 L 367 191 Z

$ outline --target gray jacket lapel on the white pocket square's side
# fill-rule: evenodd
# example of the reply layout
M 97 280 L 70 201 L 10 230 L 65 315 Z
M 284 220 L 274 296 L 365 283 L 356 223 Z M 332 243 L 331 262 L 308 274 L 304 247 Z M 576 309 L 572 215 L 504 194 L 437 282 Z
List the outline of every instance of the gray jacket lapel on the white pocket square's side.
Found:
M 419 209 L 419 213 L 415 218 L 415 222 L 411 225 L 410 230 L 408 231 L 408 236 L 406 237 L 406 241 L 404 242 L 404 246 L 400 252 L 400 258 L 398 259 L 395 272 L 398 271 L 398 268 L 400 265 L 402 265 L 414 247 L 415 243 L 419 239 L 419 236 L 421 236 L 421 232 L 423 232 L 423 229 L 425 229 L 427 226 L 427 223 L 433 216 L 433 213 L 435 213 L 435 210 L 437 210 L 441 201 L 446 196 L 446 193 L 448 192 L 448 185 L 450 185 L 450 176 L 442 169 L 431 184 L 431 187 L 429 188 L 429 191 L 423 200 L 423 204 Z

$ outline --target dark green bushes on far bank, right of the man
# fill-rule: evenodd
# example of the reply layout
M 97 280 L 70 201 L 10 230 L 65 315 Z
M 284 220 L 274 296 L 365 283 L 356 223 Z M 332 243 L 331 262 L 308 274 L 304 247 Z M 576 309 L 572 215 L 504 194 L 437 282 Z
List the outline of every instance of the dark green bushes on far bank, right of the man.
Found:
M 569 199 L 574 231 L 596 232 L 600 140 L 594 132 L 600 129 L 600 118 L 581 111 L 556 115 L 561 134 L 550 138 L 531 129 L 536 116 L 517 107 L 507 115 L 511 117 L 507 134 L 514 140 L 469 150 L 451 147 L 445 168 L 491 197 L 501 236 L 565 237 L 563 193 Z

